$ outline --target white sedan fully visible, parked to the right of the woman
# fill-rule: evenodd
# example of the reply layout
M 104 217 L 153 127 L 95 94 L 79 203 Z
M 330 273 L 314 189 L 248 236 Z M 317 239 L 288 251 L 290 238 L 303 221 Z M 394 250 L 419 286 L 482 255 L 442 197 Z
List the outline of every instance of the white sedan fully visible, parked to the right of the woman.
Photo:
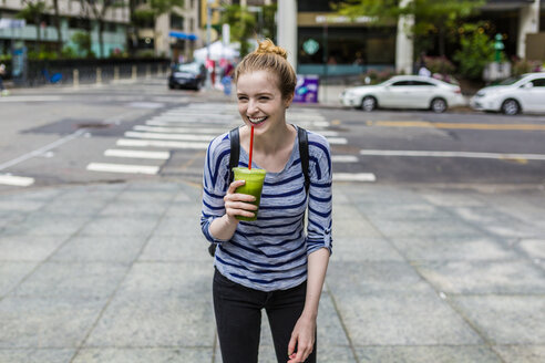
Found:
M 465 104 L 459 85 L 420 75 L 397 75 L 380 84 L 346 89 L 339 97 L 345 106 L 364 111 L 383 107 L 445 112 Z

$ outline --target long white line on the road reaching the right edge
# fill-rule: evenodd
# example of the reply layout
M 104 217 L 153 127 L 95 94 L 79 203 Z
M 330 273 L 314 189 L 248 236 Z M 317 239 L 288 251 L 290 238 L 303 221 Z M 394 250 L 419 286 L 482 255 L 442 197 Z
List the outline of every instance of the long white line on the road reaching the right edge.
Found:
M 545 160 L 545 154 L 504 154 L 504 153 L 474 153 L 474 152 L 431 152 L 431 151 L 360 151 L 367 156 L 410 156 L 410 157 L 465 157 L 491 158 L 510 160 Z

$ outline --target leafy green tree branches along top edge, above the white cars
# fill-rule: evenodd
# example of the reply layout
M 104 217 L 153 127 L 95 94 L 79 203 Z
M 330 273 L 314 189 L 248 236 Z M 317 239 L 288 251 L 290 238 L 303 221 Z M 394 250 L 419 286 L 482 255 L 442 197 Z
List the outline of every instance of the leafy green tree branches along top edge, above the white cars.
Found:
M 342 15 L 352 18 L 366 15 L 377 25 L 395 24 L 401 15 L 413 14 L 415 23 L 411 29 L 417 38 L 436 35 L 439 53 L 445 53 L 449 34 L 454 35 L 462 19 L 474 14 L 485 0 L 412 0 L 400 8 L 398 0 L 345 0 L 336 6 Z

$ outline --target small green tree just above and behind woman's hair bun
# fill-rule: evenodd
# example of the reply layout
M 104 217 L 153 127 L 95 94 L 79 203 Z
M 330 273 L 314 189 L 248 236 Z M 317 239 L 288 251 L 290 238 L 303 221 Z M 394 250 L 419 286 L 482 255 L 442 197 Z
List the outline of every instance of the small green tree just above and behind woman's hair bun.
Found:
M 249 53 L 248 39 L 251 35 L 257 35 L 256 17 L 249 12 L 246 7 L 238 4 L 228 6 L 222 14 L 222 22 L 228 23 L 230 27 L 230 39 L 235 42 L 240 42 L 240 56 Z

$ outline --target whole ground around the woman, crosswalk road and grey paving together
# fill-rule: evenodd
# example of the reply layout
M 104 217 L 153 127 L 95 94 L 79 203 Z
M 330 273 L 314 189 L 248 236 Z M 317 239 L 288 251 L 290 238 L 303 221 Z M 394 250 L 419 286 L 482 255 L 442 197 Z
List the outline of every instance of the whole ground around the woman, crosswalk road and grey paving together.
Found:
M 0 98 L 0 362 L 222 362 L 200 178 L 236 105 L 140 82 Z M 545 361 L 545 116 L 288 122 L 333 158 L 318 362 Z

